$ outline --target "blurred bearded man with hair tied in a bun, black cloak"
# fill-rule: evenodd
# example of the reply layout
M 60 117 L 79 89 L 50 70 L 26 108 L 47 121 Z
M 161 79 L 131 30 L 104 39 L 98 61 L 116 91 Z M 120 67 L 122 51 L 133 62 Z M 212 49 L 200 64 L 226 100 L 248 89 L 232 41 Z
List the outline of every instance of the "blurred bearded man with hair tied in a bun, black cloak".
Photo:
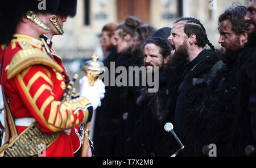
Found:
M 141 20 L 127 16 L 125 21 L 115 28 L 114 46 L 116 47 L 117 54 L 114 57 L 117 59 L 111 60 L 114 68 L 117 66 L 128 68 L 131 64 L 137 64 L 138 59 L 131 54 L 131 44 L 134 32 L 140 25 Z M 106 62 L 106 65 L 108 67 L 108 62 Z M 115 74 L 115 77 L 118 75 Z M 97 135 L 94 136 L 95 156 L 124 155 L 123 118 L 126 120 L 128 114 L 124 109 L 127 109 L 127 106 L 129 108 L 129 105 L 131 106 L 130 100 L 127 101 L 127 96 L 127 87 L 114 85 L 106 89 L 105 98 L 102 99 L 102 106 L 97 111 L 97 126 L 95 128 Z M 131 97 L 133 98 L 134 96 Z

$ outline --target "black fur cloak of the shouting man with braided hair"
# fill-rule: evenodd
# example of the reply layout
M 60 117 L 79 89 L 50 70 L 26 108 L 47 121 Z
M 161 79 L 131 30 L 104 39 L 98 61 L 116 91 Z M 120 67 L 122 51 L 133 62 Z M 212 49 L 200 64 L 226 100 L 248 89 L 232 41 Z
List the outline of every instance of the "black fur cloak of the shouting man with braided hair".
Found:
M 194 69 L 187 71 L 181 86 L 181 94 L 185 102 L 185 119 L 187 121 L 187 134 L 185 135 L 185 149 L 181 156 L 201 156 L 204 142 L 203 115 L 207 111 L 207 104 L 212 104 L 214 90 L 222 73 L 225 71 L 225 64 L 221 60 L 220 52 L 213 52 L 205 49 L 199 56 L 200 60 Z M 197 56 L 197 57 L 199 57 Z M 206 104 L 207 103 L 207 104 Z

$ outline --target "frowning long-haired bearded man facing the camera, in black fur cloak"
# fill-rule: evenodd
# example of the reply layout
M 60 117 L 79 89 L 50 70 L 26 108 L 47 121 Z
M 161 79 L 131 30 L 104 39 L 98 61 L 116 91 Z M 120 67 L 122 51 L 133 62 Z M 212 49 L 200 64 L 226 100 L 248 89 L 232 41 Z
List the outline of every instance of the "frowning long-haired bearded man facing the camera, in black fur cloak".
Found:
M 174 123 L 177 82 L 175 77 L 179 76 L 168 68 L 170 53 L 168 41 L 161 37 L 151 37 L 143 44 L 147 75 L 159 75 L 159 81 L 154 81 L 158 82 L 159 87 L 154 92 L 150 91 L 150 86 L 143 87 L 137 99 L 137 112 L 141 122 L 134 131 L 140 140 L 137 142 L 141 146 L 141 156 L 168 157 L 179 149 L 170 132 L 164 131 L 167 122 Z M 158 74 L 154 71 L 156 66 L 159 68 Z M 155 79 L 155 76 L 152 79 Z

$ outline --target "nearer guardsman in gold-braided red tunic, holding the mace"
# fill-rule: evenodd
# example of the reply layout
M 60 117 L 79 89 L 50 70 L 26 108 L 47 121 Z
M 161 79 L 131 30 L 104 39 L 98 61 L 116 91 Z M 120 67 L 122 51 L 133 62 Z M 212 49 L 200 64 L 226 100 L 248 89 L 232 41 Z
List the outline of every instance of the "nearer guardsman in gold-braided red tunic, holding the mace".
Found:
M 104 83 L 98 80 L 90 87 L 85 80 L 79 98 L 61 102 L 67 87 L 64 70 L 43 51 L 39 40 L 40 35 L 48 33 L 49 19 L 59 2 L 46 1 L 43 12 L 36 0 L 4 3 L 6 11 L 1 12 L 8 13 L 11 8 L 19 11 L 13 14 L 14 23 L 5 24 L 5 33 L 10 36 L 0 37 L 0 43 L 10 42 L 1 72 L 6 144 L 0 148 L 0 155 L 73 156 L 71 137 L 66 132 L 90 121 L 93 109 L 104 95 Z

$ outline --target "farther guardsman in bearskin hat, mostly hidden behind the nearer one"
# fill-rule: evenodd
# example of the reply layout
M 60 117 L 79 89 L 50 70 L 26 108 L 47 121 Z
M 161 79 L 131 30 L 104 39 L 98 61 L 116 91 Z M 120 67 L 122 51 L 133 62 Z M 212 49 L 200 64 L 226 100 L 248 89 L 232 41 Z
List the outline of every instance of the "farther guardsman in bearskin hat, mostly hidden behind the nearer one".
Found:
M 61 0 L 59 4 L 59 9 L 57 10 L 55 15 L 52 15 L 51 29 L 49 30 L 49 33 L 44 34 L 40 36 L 40 40 L 43 42 L 43 50 L 44 52 L 48 53 L 52 60 L 54 60 L 57 64 L 63 68 L 65 77 L 68 78 L 68 74 L 62 64 L 61 58 L 57 55 L 55 52 L 55 49 L 52 48 L 52 37 L 55 35 L 63 35 L 63 26 L 64 22 L 66 22 L 67 18 L 74 17 L 76 15 L 76 7 L 77 7 L 77 0 Z M 67 79 L 69 81 L 69 79 Z M 80 125 L 77 125 L 76 127 L 71 129 L 71 132 L 69 135 L 71 136 L 72 144 L 73 144 L 73 150 L 74 154 L 76 153 L 76 156 L 81 156 L 81 153 L 78 152 L 81 150 L 81 142 L 82 142 L 82 136 L 80 136 Z

